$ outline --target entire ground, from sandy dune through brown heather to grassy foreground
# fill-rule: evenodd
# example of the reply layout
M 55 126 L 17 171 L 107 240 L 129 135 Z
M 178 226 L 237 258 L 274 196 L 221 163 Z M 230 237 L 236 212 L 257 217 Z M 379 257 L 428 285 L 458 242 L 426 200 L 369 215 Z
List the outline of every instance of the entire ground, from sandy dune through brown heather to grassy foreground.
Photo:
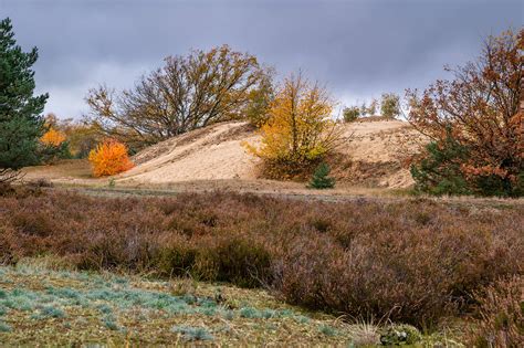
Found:
M 324 191 L 261 179 L 244 123 L 111 179 L 83 160 L 25 169 L 51 187 L 0 194 L 0 342 L 523 342 L 524 201 L 409 197 L 402 159 L 422 139 L 397 120 L 342 127 Z

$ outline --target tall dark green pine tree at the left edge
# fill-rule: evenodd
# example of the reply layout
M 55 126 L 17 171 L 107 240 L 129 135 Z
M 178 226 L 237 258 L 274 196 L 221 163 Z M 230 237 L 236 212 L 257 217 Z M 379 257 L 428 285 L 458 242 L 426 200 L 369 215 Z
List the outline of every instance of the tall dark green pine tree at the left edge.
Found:
M 0 21 L 0 182 L 38 161 L 38 141 L 44 131 L 41 116 L 48 95 L 33 96 L 38 49 L 25 53 L 17 45 L 11 20 Z

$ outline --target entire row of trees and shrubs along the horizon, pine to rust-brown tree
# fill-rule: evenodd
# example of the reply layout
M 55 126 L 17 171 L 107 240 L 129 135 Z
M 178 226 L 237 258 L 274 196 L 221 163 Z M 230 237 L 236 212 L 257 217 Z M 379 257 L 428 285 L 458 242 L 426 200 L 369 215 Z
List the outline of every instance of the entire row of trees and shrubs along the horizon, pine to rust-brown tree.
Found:
M 407 89 L 405 116 L 429 140 L 411 158 L 417 191 L 524 194 L 523 45 L 523 29 L 490 36 L 474 62 L 446 68 L 452 80 L 439 80 L 422 93 Z M 247 150 L 277 178 L 311 172 L 339 143 L 336 102 L 326 87 L 302 72 L 279 82 L 274 68 L 228 45 L 169 56 L 124 91 L 105 85 L 90 89 L 85 101 L 91 112 L 82 122 L 43 117 L 48 95 L 33 95 L 36 59 L 36 48 L 23 52 L 11 21 L 2 20 L 0 181 L 12 181 L 20 168 L 42 161 L 95 158 L 112 145 L 119 146 L 122 158 L 120 145 L 134 154 L 226 120 L 248 120 L 258 128 L 262 143 L 247 145 Z M 386 93 L 380 102 L 345 107 L 343 119 L 374 116 L 378 108 L 386 118 L 402 113 L 400 97 Z M 129 166 L 118 168 L 124 167 Z

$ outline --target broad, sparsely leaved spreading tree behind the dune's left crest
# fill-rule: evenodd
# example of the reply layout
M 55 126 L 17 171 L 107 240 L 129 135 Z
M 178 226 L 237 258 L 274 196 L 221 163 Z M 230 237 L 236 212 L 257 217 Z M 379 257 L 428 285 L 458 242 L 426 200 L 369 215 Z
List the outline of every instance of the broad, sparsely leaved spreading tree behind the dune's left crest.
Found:
M 264 112 L 269 76 L 255 56 L 228 45 L 168 56 L 133 88 L 91 89 L 90 119 L 104 134 L 139 148 L 212 123 L 245 118 L 248 112 Z

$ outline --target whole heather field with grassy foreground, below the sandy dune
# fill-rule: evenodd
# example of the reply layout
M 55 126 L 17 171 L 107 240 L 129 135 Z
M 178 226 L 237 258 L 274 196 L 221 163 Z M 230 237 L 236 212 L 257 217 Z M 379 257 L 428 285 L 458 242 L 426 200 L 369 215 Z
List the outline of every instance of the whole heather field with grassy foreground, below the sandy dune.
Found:
M 10 345 L 460 346 L 496 329 L 490 286 L 522 296 L 520 201 L 15 188 L 0 220 Z

